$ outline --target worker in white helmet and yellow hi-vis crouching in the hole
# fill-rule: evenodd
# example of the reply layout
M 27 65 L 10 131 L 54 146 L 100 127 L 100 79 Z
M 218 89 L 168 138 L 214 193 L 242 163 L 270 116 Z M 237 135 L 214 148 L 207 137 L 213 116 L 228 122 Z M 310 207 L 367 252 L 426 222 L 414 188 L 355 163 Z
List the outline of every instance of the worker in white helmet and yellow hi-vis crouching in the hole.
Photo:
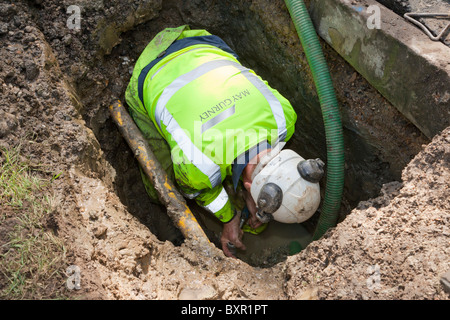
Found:
M 317 210 L 323 162 L 282 150 L 294 109 L 219 37 L 163 30 L 136 62 L 125 97 L 180 192 L 223 223 L 225 255 L 245 250 L 244 231 L 258 234 L 271 219 L 300 223 Z

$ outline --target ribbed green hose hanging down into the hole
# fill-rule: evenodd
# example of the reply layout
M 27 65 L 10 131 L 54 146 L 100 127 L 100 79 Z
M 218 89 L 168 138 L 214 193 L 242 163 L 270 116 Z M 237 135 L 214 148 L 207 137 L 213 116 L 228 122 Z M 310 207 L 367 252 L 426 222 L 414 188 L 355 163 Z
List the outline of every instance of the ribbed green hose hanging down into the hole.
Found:
M 303 0 L 285 0 L 308 60 L 322 108 L 327 142 L 327 185 L 313 240 L 336 226 L 344 187 L 344 138 L 339 105 L 319 38 Z

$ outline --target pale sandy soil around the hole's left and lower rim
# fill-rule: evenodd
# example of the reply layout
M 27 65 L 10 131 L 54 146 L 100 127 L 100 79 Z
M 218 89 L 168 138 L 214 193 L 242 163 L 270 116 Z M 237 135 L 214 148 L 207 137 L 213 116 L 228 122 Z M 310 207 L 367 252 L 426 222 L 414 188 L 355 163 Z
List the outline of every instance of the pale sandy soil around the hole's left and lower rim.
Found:
M 98 3 L 92 1 L 87 10 L 95 12 Z M 22 143 L 26 155 L 47 168 L 49 179 L 62 173 L 51 186 L 56 196 L 51 229 L 68 248 L 67 266 L 81 270 L 81 289 L 67 294 L 85 299 L 450 299 L 440 283 L 450 269 L 450 128 L 423 146 L 403 170 L 401 183 L 385 184 L 380 197 L 361 202 L 337 228 L 286 262 L 254 268 L 219 250 L 206 256 L 190 243 L 161 240 L 155 222 L 130 213 L 139 205 L 147 206 L 149 216 L 164 210 L 145 197 L 124 201 L 117 168 L 136 163 L 108 113 L 89 109 L 99 101 L 97 92 L 123 88 L 129 75 L 106 83 L 89 73 L 86 61 L 98 60 L 95 51 L 81 49 L 90 44 L 87 36 L 61 31 L 66 29 L 57 19 L 33 18 L 41 6 L 42 1 L 0 4 L 0 145 Z M 59 14 L 54 2 L 49 6 Z M 86 21 L 88 27 L 94 20 Z M 109 67 L 114 66 L 102 66 Z M 111 152 L 123 163 L 112 162 Z M 139 179 L 135 171 L 130 174 Z M 134 188 L 134 194 L 143 191 L 138 184 L 125 187 Z

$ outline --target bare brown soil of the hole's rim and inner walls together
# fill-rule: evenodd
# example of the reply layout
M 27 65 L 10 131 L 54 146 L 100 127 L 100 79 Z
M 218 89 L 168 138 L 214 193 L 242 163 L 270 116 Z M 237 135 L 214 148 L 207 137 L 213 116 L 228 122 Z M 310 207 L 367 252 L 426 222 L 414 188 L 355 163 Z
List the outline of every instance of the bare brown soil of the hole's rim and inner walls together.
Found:
M 81 8 L 79 30 L 68 28 L 70 5 Z M 337 228 L 285 262 L 254 268 L 197 253 L 147 199 L 108 106 L 123 100 L 134 62 L 166 27 L 222 37 L 295 107 L 289 147 L 326 160 L 314 83 L 281 0 L 3 1 L 0 17 L 0 143 L 22 143 L 33 161 L 62 172 L 52 182 L 51 220 L 67 264 L 81 269 L 72 294 L 448 299 L 439 282 L 450 269 L 448 129 L 430 143 L 325 43 L 346 143 Z

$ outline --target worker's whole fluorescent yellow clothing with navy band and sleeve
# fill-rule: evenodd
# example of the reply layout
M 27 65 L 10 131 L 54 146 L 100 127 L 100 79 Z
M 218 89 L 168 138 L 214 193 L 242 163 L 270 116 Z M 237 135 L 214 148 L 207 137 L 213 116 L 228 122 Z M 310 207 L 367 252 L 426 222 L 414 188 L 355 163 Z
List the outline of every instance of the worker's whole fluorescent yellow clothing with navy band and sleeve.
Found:
M 220 38 L 188 26 L 166 29 L 147 46 L 126 100 L 141 130 L 156 129 L 167 142 L 180 191 L 224 223 L 235 210 L 222 182 L 231 176 L 236 187 L 249 160 L 287 141 L 297 119 Z

